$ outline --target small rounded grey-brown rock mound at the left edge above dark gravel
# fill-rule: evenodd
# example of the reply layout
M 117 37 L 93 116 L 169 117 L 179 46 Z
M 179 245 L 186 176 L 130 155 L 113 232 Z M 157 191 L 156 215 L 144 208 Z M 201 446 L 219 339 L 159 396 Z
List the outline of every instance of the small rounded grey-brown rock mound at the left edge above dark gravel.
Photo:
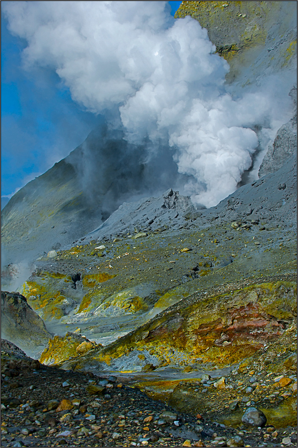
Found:
M 1 336 L 26 354 L 42 349 L 52 337 L 24 296 L 5 291 L 1 292 Z

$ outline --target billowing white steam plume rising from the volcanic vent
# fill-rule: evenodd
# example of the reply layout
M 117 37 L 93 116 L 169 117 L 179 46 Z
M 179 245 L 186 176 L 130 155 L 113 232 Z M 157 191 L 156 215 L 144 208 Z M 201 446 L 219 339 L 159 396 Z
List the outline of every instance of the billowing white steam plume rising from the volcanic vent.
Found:
M 276 111 L 291 103 L 286 96 L 274 108 L 270 88 L 233 99 L 229 66 L 207 31 L 190 17 L 174 20 L 166 1 L 7 1 L 3 9 L 28 43 L 25 66 L 55 70 L 88 111 L 116 108 L 129 143 L 149 139 L 154 153 L 167 142 L 197 204 L 236 190 L 258 146 L 250 128 L 275 132 Z

